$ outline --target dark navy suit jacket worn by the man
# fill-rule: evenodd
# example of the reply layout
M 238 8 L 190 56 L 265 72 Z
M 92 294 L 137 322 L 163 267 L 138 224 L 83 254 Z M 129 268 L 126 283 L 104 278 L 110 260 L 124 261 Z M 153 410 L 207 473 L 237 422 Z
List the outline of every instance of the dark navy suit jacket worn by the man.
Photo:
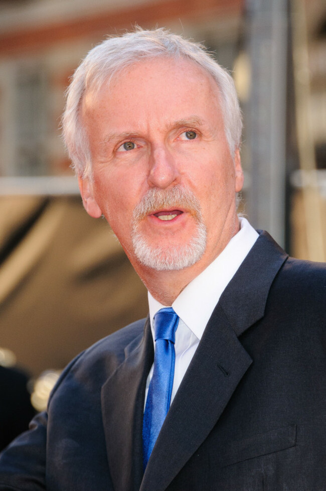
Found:
M 142 472 L 148 320 L 80 354 L 0 459 L 0 489 L 321 491 L 326 268 L 261 234 L 205 329 Z

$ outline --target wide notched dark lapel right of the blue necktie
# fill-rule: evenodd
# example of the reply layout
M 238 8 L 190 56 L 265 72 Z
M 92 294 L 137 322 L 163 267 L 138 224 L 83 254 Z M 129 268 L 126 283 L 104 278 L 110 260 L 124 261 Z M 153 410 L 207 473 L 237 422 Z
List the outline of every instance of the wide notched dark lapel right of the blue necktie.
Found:
M 238 340 L 263 315 L 287 255 L 265 232 L 207 324 L 148 461 L 140 491 L 163 491 L 217 423 L 252 359 Z

